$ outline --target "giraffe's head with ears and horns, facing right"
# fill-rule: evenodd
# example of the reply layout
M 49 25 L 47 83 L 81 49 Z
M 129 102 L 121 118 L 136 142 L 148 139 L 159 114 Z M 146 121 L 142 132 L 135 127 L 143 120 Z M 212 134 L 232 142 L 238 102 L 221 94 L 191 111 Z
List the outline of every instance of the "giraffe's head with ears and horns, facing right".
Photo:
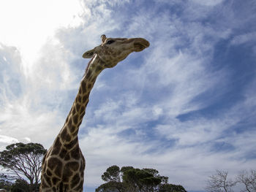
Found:
M 107 38 L 103 34 L 101 39 L 102 44 L 83 53 L 83 58 L 91 58 L 97 54 L 106 68 L 116 66 L 119 61 L 127 58 L 129 53 L 142 51 L 149 46 L 149 42 L 143 38 Z

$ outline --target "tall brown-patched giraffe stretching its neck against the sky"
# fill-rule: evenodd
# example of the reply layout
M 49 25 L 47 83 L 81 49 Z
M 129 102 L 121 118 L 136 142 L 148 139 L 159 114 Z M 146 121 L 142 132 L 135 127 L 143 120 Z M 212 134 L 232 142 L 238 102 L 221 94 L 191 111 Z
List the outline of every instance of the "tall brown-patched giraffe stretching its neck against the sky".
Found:
M 78 143 L 78 130 L 86 113 L 89 94 L 103 69 L 112 68 L 129 53 L 149 46 L 143 38 L 107 38 L 101 36 L 101 45 L 83 53 L 91 58 L 80 82 L 78 94 L 69 115 L 42 161 L 41 192 L 83 191 L 85 158 Z

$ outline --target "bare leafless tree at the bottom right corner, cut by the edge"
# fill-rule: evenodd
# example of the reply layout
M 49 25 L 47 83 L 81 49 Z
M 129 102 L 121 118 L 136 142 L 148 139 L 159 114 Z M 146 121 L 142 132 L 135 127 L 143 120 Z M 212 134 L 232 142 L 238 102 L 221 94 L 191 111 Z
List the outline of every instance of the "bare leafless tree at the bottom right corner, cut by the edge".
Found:
M 244 191 L 252 192 L 256 191 L 256 171 L 251 170 L 247 172 L 246 170 L 241 171 L 236 178 L 237 183 L 241 183 L 245 186 Z

